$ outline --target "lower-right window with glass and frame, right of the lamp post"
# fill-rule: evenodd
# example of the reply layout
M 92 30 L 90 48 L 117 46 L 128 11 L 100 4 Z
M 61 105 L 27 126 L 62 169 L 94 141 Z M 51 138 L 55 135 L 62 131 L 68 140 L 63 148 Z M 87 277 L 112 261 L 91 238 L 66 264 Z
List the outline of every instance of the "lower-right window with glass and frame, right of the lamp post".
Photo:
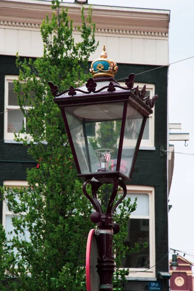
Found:
M 127 189 L 131 203 L 137 197 L 137 208 L 130 215 L 124 244 L 131 249 L 137 243 L 139 251 L 126 256 L 122 267 L 129 268 L 130 277 L 155 277 L 154 187 L 127 185 Z

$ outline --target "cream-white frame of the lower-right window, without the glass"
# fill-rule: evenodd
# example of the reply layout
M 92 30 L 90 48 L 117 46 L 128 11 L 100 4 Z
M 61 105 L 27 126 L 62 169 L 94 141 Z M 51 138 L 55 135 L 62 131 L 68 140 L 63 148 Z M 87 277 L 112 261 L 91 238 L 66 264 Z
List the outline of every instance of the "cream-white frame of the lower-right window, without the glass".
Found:
M 140 185 L 126 185 L 128 194 L 148 194 L 149 196 L 149 216 L 130 215 L 129 219 L 149 219 L 149 268 L 126 268 L 129 269 L 129 276 L 126 278 L 155 278 L 156 277 L 156 252 L 155 252 L 155 206 L 154 206 L 154 187 Z M 120 191 L 122 194 L 122 191 Z M 138 199 L 137 199 L 138 205 Z M 123 269 L 123 268 L 121 268 Z M 147 270 L 148 269 L 148 270 Z

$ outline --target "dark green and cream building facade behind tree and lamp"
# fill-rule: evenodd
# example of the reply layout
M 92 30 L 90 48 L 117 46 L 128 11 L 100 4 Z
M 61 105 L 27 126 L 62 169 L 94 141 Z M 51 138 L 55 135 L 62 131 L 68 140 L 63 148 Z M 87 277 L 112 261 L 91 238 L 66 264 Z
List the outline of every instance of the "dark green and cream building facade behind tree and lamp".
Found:
M 74 20 L 74 38 L 80 39 L 76 29 L 81 24 L 81 4 L 69 6 Z M 87 13 L 88 5 L 84 5 Z M 41 57 L 43 43 L 40 25 L 45 15 L 51 16 L 49 1 L 0 0 L 0 185 L 26 184 L 26 169 L 36 166 L 27 155 L 26 148 L 14 141 L 14 131 L 26 124 L 17 107 L 13 93 L 13 80 L 17 78 L 16 52 L 21 58 Z M 98 58 L 102 45 L 108 57 L 116 61 L 119 69 L 116 80 L 121 84 L 134 73 L 135 85 L 146 84 L 150 97 L 159 95 L 154 113 L 146 123 L 145 132 L 133 172 L 127 185 L 132 201 L 138 197 L 137 209 L 131 214 L 125 243 L 135 242 L 148 247 L 139 254 L 123 260 L 129 268 L 126 291 L 149 289 L 149 282 L 162 284 L 168 290 L 168 280 L 159 278 L 158 272 L 168 272 L 168 160 L 161 154 L 161 146 L 168 149 L 168 30 L 170 12 L 139 8 L 93 5 L 96 40 L 99 46 L 90 61 Z M 158 69 L 159 66 L 163 66 Z M 122 83 L 123 82 L 123 83 Z M 11 229 L 11 213 L 0 204 L 0 218 L 6 232 Z

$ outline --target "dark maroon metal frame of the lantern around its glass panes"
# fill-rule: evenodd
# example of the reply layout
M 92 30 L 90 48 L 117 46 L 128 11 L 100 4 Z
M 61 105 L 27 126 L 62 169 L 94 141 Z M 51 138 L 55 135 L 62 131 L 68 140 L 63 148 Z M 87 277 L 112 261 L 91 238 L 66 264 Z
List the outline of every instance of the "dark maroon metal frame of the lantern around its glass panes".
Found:
M 58 87 L 53 85 L 52 82 L 48 82 L 50 86 L 50 90 L 54 96 L 54 102 L 61 109 L 61 113 L 65 123 L 65 129 L 67 132 L 67 136 L 69 139 L 69 144 L 72 150 L 75 166 L 78 172 L 78 177 L 83 178 L 84 180 L 88 180 L 90 178 L 97 178 L 101 183 L 107 183 L 110 178 L 122 178 L 131 181 L 132 172 L 134 169 L 134 165 L 137 158 L 137 153 L 139 150 L 139 146 L 141 143 L 142 135 L 144 132 L 146 118 L 149 114 L 153 113 L 152 108 L 155 105 L 155 101 L 158 98 L 158 95 L 155 95 L 150 99 L 150 97 L 145 97 L 146 95 L 146 85 L 140 91 L 138 86 L 134 88 L 134 74 L 130 74 L 126 79 L 126 87 L 121 86 L 117 81 L 113 78 L 97 78 L 97 79 L 88 79 L 87 83 L 79 88 L 74 88 L 71 86 L 69 89 L 57 94 Z M 108 85 L 105 85 L 97 90 L 97 84 L 100 82 L 106 81 Z M 83 90 L 87 88 L 87 91 Z M 79 159 L 76 154 L 75 146 L 73 143 L 73 139 L 71 136 L 71 132 L 69 129 L 69 125 L 67 122 L 65 109 L 68 108 L 68 111 L 75 108 L 75 106 L 87 106 L 87 105 L 95 105 L 95 104 L 111 104 L 117 102 L 124 102 L 123 114 L 122 114 L 122 123 L 121 123 L 121 131 L 120 131 L 120 139 L 118 146 L 118 156 L 116 162 L 116 170 L 110 172 L 92 172 L 92 173 L 81 173 Z M 121 155 L 123 149 L 123 140 L 124 140 L 124 131 L 125 131 L 125 122 L 127 118 L 127 108 L 128 104 L 136 109 L 139 113 L 141 113 L 143 117 L 142 126 L 140 129 L 139 137 L 136 142 L 135 150 L 133 153 L 131 168 L 129 172 L 129 176 L 121 173 L 119 171 L 121 164 Z M 108 178 L 108 180 L 107 180 Z

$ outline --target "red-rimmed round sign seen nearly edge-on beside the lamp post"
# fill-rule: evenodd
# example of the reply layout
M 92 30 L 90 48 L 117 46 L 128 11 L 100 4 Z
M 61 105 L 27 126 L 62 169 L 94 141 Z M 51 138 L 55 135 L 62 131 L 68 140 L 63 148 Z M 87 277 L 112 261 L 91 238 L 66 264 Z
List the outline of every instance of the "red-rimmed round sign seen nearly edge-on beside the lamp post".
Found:
M 99 275 L 97 274 L 97 241 L 95 229 L 88 234 L 86 247 L 86 289 L 87 291 L 99 291 Z

